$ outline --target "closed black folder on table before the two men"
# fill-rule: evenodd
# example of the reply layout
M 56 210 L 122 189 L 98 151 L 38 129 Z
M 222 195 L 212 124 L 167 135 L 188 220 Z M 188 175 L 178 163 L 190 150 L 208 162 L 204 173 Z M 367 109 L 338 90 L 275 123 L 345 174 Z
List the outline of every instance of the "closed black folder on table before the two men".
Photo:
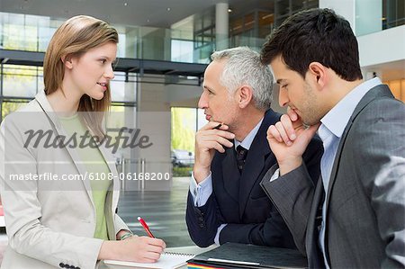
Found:
M 225 243 L 187 262 L 214 268 L 306 268 L 308 266 L 307 259 L 298 250 L 238 243 Z

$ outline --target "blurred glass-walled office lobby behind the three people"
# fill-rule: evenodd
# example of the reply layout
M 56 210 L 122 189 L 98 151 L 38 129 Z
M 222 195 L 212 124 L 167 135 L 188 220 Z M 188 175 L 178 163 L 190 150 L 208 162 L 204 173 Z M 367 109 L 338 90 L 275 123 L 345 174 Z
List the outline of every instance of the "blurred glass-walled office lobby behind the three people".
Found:
M 258 51 L 285 18 L 312 7 L 332 8 L 351 23 L 365 79 L 381 77 L 405 102 L 403 0 L 0 0 L 0 121 L 43 89 L 44 51 L 62 22 L 87 14 L 111 23 L 120 43 L 107 133 L 138 129 L 154 141 L 153 150 L 119 148 L 117 166 L 132 175 L 174 175 L 123 181 L 120 213 L 134 232 L 141 229 L 133 219 L 143 213 L 171 247 L 192 244 L 185 196 L 193 135 L 206 122 L 197 102 L 211 52 L 237 46 Z M 277 89 L 273 107 L 283 112 Z M 4 231 L 1 240 L 5 245 Z

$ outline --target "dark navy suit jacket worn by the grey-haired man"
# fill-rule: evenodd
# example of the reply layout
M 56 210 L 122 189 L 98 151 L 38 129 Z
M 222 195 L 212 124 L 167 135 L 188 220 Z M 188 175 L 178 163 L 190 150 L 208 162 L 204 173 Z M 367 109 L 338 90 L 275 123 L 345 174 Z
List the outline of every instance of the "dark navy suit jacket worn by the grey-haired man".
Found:
M 205 205 L 195 207 L 189 193 L 186 223 L 190 237 L 197 246 L 213 244 L 218 227 L 227 223 L 220 231 L 220 244 L 237 242 L 295 247 L 283 218 L 259 185 L 266 171 L 276 162 L 266 139 L 266 131 L 280 120 L 280 116 L 272 110 L 266 112 L 248 151 L 242 175 L 238 172 L 235 148 L 227 148 L 225 153 L 217 152 L 212 159 L 213 192 Z M 320 175 L 322 152 L 318 138 L 311 141 L 304 154 L 313 178 Z

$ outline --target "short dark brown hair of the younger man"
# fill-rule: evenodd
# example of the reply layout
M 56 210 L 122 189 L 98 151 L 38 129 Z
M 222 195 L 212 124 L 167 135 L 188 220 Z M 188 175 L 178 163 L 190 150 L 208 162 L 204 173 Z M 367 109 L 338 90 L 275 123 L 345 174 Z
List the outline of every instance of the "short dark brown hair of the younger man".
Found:
M 349 22 L 328 8 L 302 11 L 286 19 L 261 51 L 266 65 L 278 56 L 302 77 L 311 62 L 320 62 L 347 81 L 363 78 L 356 36 Z

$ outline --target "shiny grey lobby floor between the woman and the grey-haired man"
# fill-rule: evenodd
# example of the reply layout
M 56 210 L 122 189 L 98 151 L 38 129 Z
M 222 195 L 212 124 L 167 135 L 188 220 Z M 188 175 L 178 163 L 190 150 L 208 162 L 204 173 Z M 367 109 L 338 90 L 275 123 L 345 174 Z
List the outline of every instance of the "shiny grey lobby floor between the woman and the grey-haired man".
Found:
M 186 177 L 175 177 L 170 192 L 121 193 L 119 215 L 138 235 L 146 235 L 137 220 L 141 216 L 155 237 L 165 240 L 167 247 L 193 246 L 184 220 L 188 182 Z M 4 229 L 0 229 L 0 263 L 6 246 L 7 237 Z

